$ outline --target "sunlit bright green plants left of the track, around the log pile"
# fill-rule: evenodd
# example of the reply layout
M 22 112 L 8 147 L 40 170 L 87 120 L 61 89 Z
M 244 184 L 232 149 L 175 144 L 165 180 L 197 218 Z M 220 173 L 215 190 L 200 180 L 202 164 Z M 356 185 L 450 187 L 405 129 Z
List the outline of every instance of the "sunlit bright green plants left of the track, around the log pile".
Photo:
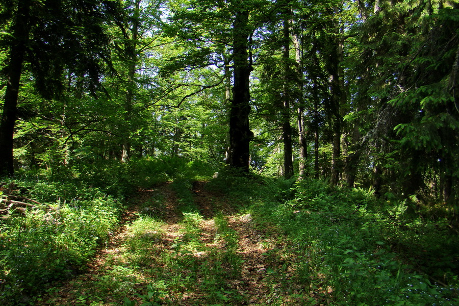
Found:
M 119 201 L 71 183 L 15 181 L 43 204 L 0 225 L 0 304 L 33 304 L 46 284 L 72 276 L 118 222 Z

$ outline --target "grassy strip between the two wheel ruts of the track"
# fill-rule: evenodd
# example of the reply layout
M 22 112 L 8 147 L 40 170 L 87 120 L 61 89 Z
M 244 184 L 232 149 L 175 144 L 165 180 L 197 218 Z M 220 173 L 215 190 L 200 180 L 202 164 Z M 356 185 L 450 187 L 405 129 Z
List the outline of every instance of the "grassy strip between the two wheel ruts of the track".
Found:
M 177 223 L 178 233 L 174 234 L 171 245 L 157 254 L 156 259 L 149 259 L 149 265 L 145 262 L 144 277 L 148 285 L 141 293 L 135 293 L 134 297 L 145 306 L 173 305 L 174 301 L 184 296 L 201 293 L 205 298 L 197 300 L 196 304 L 238 304 L 241 300 L 239 293 L 227 288 L 228 279 L 238 277 L 240 272 L 236 231 L 228 226 L 225 216 L 217 214 L 212 219 L 215 224 L 213 239 L 214 243 L 222 246 L 206 244 L 202 241 L 203 235 L 206 235 L 202 228 L 206 220 L 194 202 L 191 182 L 185 178 L 176 179 L 171 188 L 177 197 L 177 210 L 182 217 Z M 161 238 L 163 233 L 155 233 L 158 233 L 155 234 L 156 238 L 164 239 Z M 148 250 L 149 247 L 143 245 L 141 249 Z M 150 249 L 148 253 L 154 251 Z M 128 262 L 134 268 L 133 261 Z M 126 291 L 126 295 L 132 296 L 132 292 Z M 136 299 L 125 296 L 123 305 L 137 305 Z

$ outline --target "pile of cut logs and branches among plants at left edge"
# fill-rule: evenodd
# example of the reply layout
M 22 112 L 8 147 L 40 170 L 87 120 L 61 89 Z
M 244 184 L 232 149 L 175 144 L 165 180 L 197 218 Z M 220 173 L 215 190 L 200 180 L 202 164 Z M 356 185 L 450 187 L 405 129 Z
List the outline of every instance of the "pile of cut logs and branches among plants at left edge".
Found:
M 24 190 L 27 192 L 27 189 L 14 183 L 0 184 L 0 215 L 2 215 L 2 219 L 9 218 L 11 213 L 25 215 L 28 209 L 46 207 L 40 202 L 23 196 Z

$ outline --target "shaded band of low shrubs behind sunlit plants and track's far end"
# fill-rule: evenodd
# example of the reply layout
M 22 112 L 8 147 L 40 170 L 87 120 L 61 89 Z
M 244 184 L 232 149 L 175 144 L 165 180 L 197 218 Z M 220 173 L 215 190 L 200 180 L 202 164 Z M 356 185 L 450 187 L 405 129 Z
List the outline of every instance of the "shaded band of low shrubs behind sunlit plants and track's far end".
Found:
M 71 195 L 81 196 L 87 186 L 122 198 L 131 195 L 139 187 L 149 188 L 176 179 L 208 180 L 216 169 L 218 168 L 215 165 L 205 161 L 190 162 L 179 157 L 145 157 L 126 163 L 116 160 L 79 162 L 67 166 L 53 166 L 47 170 L 18 171 L 17 175 L 26 180 L 24 187 L 28 187 L 28 181 L 38 184 L 33 193 L 44 200 L 55 200 L 58 193 L 68 194 L 67 198 L 71 198 Z M 38 183 L 33 183 L 37 179 Z M 55 191 L 49 190 L 53 188 Z

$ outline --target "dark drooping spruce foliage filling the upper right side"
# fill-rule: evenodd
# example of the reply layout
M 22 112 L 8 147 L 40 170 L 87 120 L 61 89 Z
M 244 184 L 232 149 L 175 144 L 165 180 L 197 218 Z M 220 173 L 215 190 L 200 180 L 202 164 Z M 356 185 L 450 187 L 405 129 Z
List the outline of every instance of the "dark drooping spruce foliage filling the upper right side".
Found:
M 367 10 L 366 18 L 351 30 L 358 35 L 348 46 L 345 65 L 349 80 L 358 80 L 350 81 L 352 112 L 346 118 L 365 135 L 372 156 L 362 159 L 362 170 L 369 177 L 365 164 L 374 163 L 379 167 L 376 185 L 405 198 L 422 194 L 424 203 L 443 201 L 456 209 L 457 194 L 450 190 L 457 189 L 459 152 L 452 90 L 457 7 L 404 1 L 387 3 L 373 14 L 369 7 L 359 9 Z

